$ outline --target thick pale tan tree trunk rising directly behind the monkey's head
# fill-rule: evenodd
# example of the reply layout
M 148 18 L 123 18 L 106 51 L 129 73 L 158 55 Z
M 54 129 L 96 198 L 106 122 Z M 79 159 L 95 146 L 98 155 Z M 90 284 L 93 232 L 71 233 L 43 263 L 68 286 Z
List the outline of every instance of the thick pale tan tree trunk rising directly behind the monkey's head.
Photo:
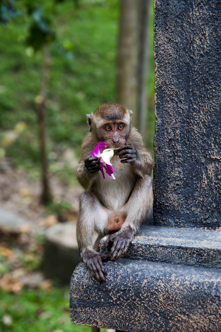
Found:
M 139 1 L 121 0 L 118 57 L 117 57 L 117 102 L 134 112 L 137 119 L 137 66 L 138 66 L 138 25 Z

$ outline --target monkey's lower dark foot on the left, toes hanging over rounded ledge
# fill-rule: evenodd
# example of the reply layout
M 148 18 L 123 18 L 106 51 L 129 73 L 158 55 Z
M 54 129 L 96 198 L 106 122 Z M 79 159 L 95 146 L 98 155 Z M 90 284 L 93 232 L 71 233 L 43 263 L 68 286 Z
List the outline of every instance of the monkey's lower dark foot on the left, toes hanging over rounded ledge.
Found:
M 94 250 L 85 250 L 81 255 L 84 264 L 90 270 L 92 276 L 98 281 L 105 281 L 105 268 L 103 262 L 110 260 L 111 254 L 106 254 Z

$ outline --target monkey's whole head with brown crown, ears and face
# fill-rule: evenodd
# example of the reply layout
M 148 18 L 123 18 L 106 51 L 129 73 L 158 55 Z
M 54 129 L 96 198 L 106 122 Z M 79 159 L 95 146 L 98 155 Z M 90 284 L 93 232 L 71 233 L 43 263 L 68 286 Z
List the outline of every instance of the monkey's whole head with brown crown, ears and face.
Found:
M 107 148 L 120 147 L 130 133 L 132 114 L 118 104 L 103 104 L 87 114 L 88 127 L 98 141 L 106 143 Z

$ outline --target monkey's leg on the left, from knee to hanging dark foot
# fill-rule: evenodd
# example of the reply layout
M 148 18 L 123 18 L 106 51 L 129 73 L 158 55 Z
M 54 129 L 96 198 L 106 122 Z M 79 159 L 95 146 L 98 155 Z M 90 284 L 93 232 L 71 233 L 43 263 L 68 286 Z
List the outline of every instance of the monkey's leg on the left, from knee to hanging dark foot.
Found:
M 108 209 L 103 207 L 93 194 L 84 192 L 79 202 L 77 241 L 83 262 L 98 281 L 105 280 L 106 272 L 102 261 L 110 259 L 110 254 L 95 251 L 92 245 L 92 236 L 94 229 L 102 233 L 107 220 Z

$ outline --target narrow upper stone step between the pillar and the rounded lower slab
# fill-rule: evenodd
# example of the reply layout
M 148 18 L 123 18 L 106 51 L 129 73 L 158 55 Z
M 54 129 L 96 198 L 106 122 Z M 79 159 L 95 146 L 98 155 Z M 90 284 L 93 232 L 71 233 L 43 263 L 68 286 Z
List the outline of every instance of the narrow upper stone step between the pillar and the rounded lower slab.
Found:
M 106 238 L 100 241 L 103 252 Z M 143 224 L 124 258 L 220 269 L 221 232 Z

